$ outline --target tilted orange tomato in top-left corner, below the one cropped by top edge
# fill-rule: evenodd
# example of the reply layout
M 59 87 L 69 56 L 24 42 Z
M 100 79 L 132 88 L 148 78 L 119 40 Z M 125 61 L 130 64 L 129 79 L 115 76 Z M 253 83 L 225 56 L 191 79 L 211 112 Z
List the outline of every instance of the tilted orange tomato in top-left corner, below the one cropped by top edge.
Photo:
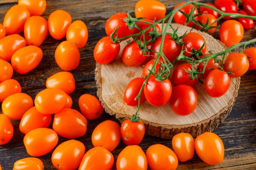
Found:
M 3 26 L 8 35 L 18 34 L 24 29 L 29 11 L 21 5 L 13 5 L 5 14 Z

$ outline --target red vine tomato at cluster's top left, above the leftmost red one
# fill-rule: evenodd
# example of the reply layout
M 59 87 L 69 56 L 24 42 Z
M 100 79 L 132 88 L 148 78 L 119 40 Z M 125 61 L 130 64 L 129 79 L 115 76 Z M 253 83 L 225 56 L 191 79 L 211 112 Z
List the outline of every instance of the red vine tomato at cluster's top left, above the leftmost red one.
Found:
M 110 35 L 117 28 L 119 29 L 114 35 L 114 37 L 117 35 L 117 38 L 126 37 L 135 32 L 135 27 L 133 29 L 128 28 L 127 22 L 124 21 L 126 18 L 128 18 L 127 13 L 116 13 L 115 15 L 112 15 L 110 18 L 108 18 L 105 26 L 105 31 L 108 37 L 110 37 Z

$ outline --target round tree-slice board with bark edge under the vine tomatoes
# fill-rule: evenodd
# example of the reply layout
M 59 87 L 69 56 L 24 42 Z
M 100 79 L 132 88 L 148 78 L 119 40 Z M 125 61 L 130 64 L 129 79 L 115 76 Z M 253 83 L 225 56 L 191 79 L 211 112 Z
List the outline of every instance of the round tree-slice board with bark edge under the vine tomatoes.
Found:
M 159 26 L 161 27 L 160 24 Z M 206 40 L 207 51 L 220 52 L 226 49 L 224 44 L 207 33 L 180 24 L 173 24 L 173 27 L 175 29 L 179 27 L 178 35 L 182 35 L 186 31 L 200 33 Z M 172 30 L 169 29 L 168 32 L 172 33 Z M 126 41 L 121 42 L 120 53 L 114 62 L 106 65 L 96 64 L 95 69 L 99 100 L 106 112 L 115 115 L 119 120 L 131 117 L 136 112 L 136 106 L 128 106 L 124 102 L 124 90 L 132 79 L 141 76 L 143 65 L 146 64 L 145 62 L 136 67 L 124 65 L 120 56 L 126 44 Z M 178 64 L 175 64 L 174 68 Z M 171 70 L 170 80 L 174 68 Z M 203 132 L 216 129 L 231 112 L 238 94 L 239 84 L 240 78 L 231 78 L 231 85 L 227 93 L 222 97 L 213 98 L 207 95 L 204 84 L 198 82 L 194 86 L 198 95 L 198 104 L 194 112 L 187 116 L 173 113 L 169 103 L 157 108 L 144 102 L 140 107 L 139 117 L 145 124 L 146 134 L 162 139 L 171 139 L 173 135 L 180 132 L 187 132 L 196 137 Z

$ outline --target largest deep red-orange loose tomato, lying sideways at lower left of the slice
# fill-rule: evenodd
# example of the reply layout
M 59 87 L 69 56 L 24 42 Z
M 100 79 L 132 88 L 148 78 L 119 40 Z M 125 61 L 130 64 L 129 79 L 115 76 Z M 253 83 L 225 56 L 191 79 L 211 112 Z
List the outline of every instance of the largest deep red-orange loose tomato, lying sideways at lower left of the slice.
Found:
M 52 128 L 61 137 L 74 139 L 85 135 L 87 120 L 77 110 L 63 108 L 55 113 Z

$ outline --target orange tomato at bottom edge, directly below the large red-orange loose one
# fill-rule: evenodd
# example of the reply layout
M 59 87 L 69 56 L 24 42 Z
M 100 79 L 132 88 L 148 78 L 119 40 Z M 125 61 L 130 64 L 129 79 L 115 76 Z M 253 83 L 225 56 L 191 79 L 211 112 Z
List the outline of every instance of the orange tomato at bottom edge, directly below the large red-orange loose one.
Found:
M 75 170 L 79 167 L 85 146 L 76 140 L 65 141 L 53 151 L 52 164 L 58 170 Z

